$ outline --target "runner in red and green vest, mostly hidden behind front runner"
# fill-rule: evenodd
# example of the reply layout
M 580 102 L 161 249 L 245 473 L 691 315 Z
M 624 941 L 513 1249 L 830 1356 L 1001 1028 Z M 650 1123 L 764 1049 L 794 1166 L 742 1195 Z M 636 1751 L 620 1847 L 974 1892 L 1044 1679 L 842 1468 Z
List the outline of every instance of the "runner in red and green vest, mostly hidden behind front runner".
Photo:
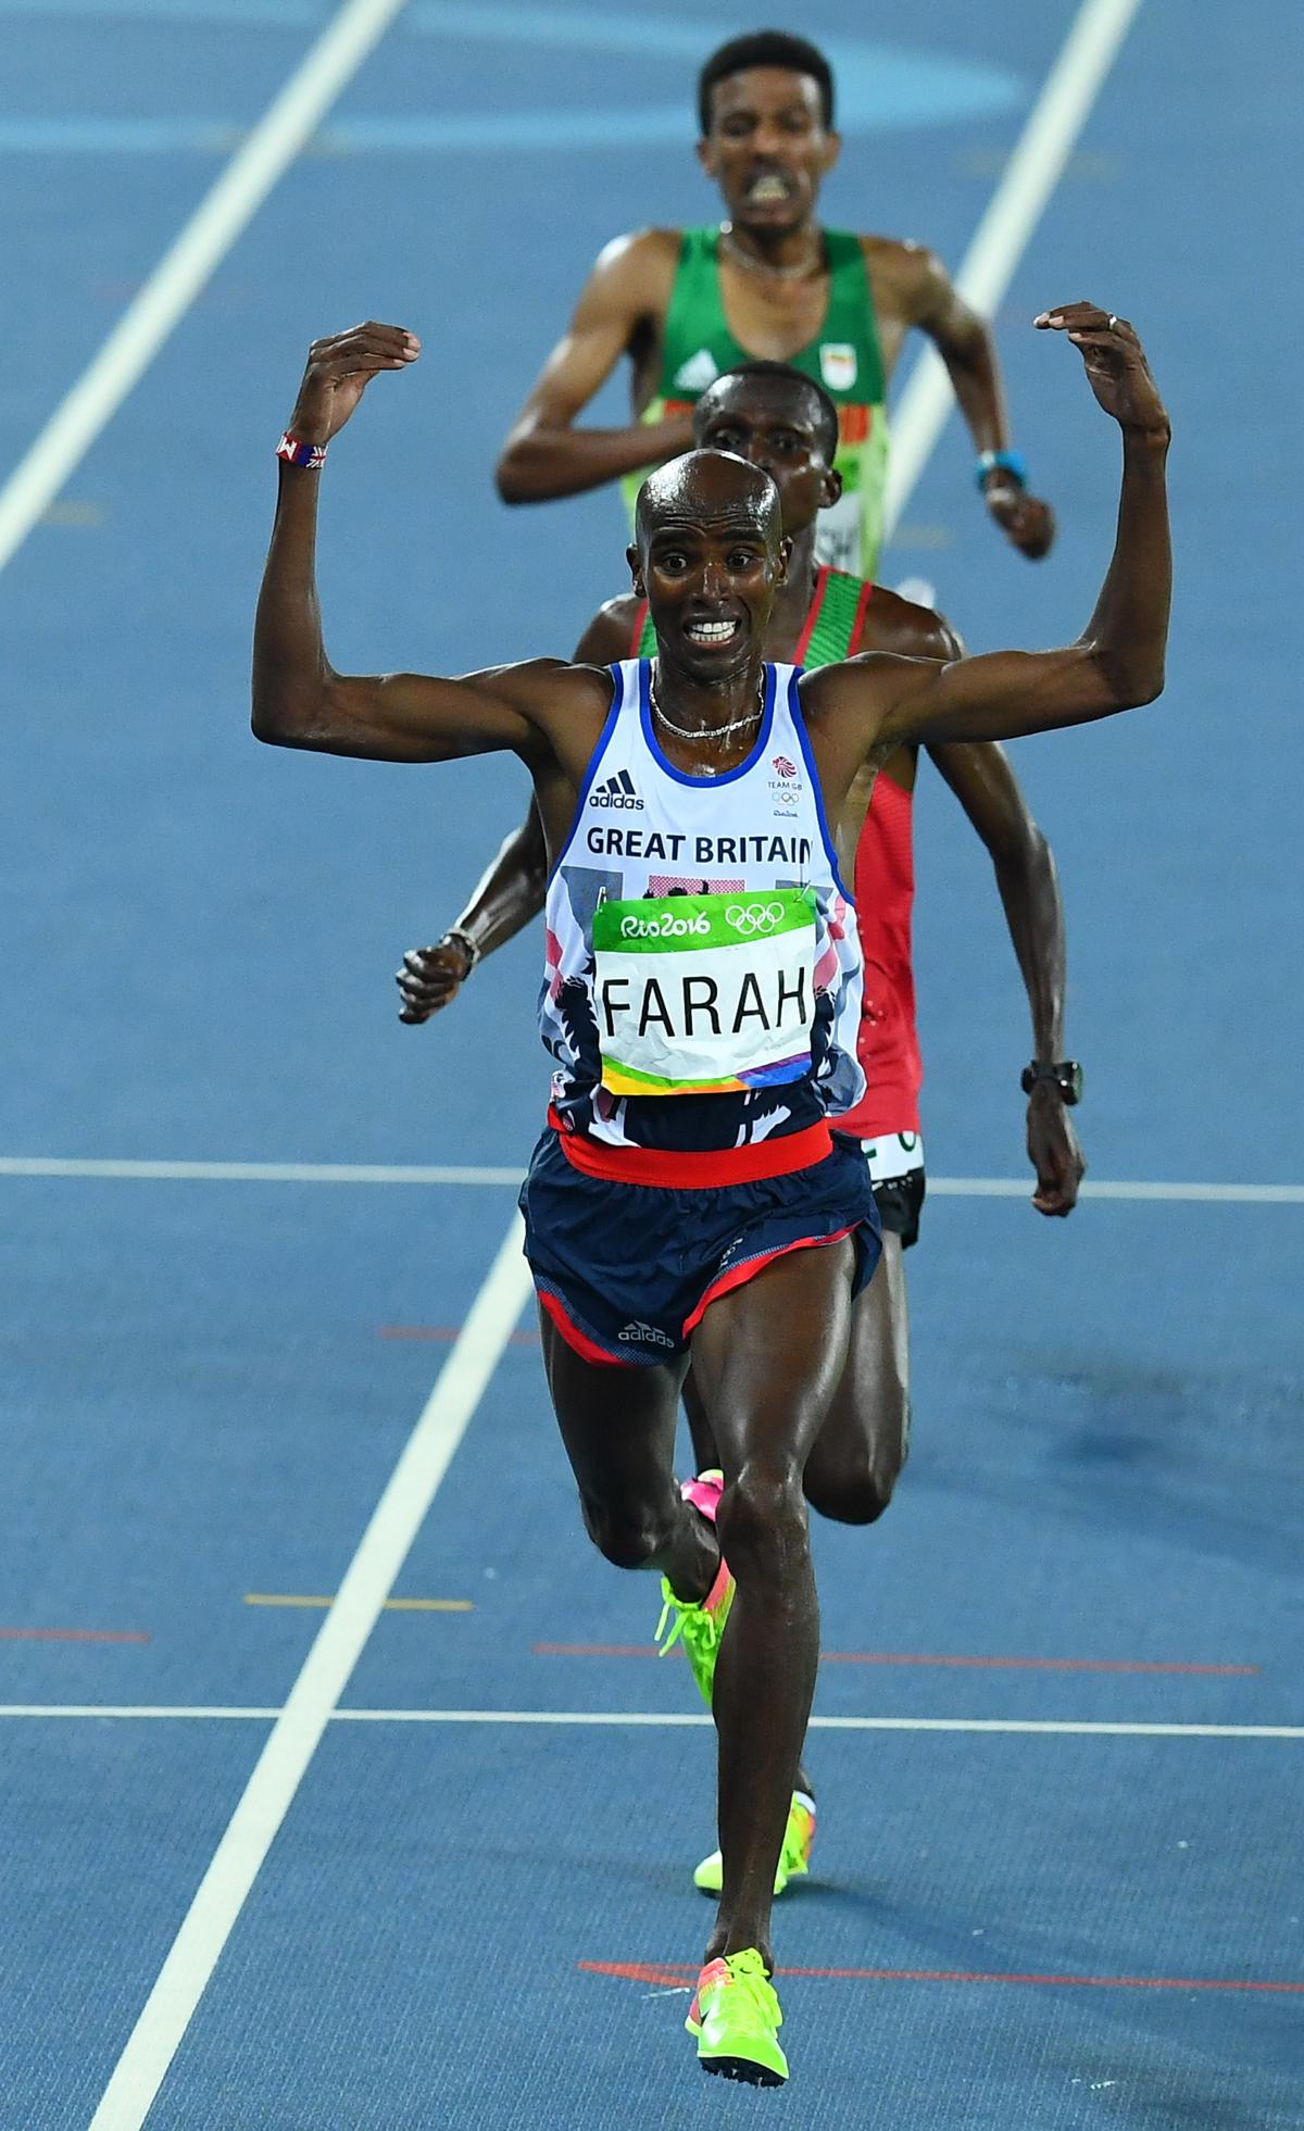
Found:
M 692 409 L 699 448 L 737 452 L 763 467 L 780 492 L 784 533 L 793 539 L 788 580 L 773 603 L 765 652 L 801 667 L 831 665 L 859 652 L 906 658 L 959 658 L 963 646 L 948 622 L 861 578 L 816 569 L 816 514 L 837 497 L 837 409 L 825 388 L 788 364 L 748 362 L 707 386 Z M 575 646 L 577 665 L 607 665 L 631 654 L 654 656 L 648 601 L 633 592 L 609 599 Z M 1004 748 L 993 742 L 929 748 L 982 837 L 1023 970 L 1033 1029 L 1033 1080 L 1027 1102 L 1027 1149 L 1038 1172 L 1033 1204 L 1067 1215 L 1078 1198 L 1082 1155 L 1070 1108 L 1076 1070 L 1063 1061 L 1065 944 L 1055 859 L 1033 823 Z M 910 918 L 914 899 L 912 795 L 918 748 L 906 746 L 878 774 L 861 774 L 835 827 L 842 876 L 854 882 L 857 927 L 865 959 L 857 1051 L 865 1097 L 837 1129 L 865 1155 L 882 1227 L 882 1259 L 857 1296 L 846 1370 L 829 1404 L 820 1441 L 805 1464 L 805 1500 L 844 1524 L 871 1524 L 893 1498 L 910 1443 L 910 1323 L 903 1253 L 918 1238 L 925 1200 L 925 1142 L 918 1115 L 923 1063 L 914 1023 Z M 531 803 L 524 825 L 496 861 L 452 929 L 433 948 L 403 959 L 403 1021 L 426 1021 L 458 993 L 471 967 L 511 940 L 543 910 L 548 850 L 543 823 Z M 965 1021 L 974 999 L 963 1002 Z M 456 1038 L 454 1038 L 456 1044 Z M 1014 1083 L 1014 1074 L 1010 1080 Z M 1067 1087 L 1065 1087 L 1067 1080 Z M 684 1383 L 699 1470 L 716 1466 L 716 1447 L 695 1396 Z M 810 1869 L 816 1831 L 814 1792 L 799 1771 L 776 1894 Z M 720 1892 L 720 1852 L 695 1871 L 703 1892 Z

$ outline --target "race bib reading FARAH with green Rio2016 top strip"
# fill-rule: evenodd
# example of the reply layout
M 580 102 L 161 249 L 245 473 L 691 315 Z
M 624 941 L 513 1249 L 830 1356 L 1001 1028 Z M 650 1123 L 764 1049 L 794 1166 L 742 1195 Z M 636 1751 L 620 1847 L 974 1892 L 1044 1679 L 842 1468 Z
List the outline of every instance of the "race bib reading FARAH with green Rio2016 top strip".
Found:
M 603 1087 L 729 1095 L 810 1072 L 810 889 L 603 901 L 592 914 Z

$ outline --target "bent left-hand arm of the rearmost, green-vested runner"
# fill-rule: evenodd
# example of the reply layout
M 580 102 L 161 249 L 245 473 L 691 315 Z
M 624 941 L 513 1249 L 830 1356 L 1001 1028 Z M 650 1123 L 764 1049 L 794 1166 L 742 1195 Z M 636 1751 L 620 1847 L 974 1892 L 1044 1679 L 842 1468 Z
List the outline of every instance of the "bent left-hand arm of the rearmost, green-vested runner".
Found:
M 624 428 L 571 426 L 620 356 L 635 352 L 641 335 L 658 330 L 678 249 L 673 230 L 639 230 L 601 254 L 567 332 L 507 433 L 494 473 L 503 503 L 577 497 L 692 450 L 688 416 Z

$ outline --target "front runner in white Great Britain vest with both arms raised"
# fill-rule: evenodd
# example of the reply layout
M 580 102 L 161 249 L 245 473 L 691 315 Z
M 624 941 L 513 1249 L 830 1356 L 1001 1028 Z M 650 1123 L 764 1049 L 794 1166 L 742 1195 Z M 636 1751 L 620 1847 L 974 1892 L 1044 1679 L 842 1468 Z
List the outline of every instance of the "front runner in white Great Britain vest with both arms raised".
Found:
M 661 1571 L 669 1639 L 716 1718 L 722 1894 L 688 2027 L 703 2069 L 754 2084 L 788 2069 L 769 1912 L 818 1664 L 801 1475 L 878 1257 L 863 1161 L 829 1134 L 863 1074 L 854 912 L 827 823 L 901 744 L 1053 731 L 1163 686 L 1163 403 L 1123 320 L 1078 303 L 1038 326 L 1078 345 L 1123 430 L 1114 554 L 1085 633 L 1053 652 L 871 654 L 803 680 L 767 665 L 788 563 L 778 490 L 695 452 L 639 497 L 654 663 L 341 676 L 315 590 L 317 475 L 371 377 L 418 358 L 415 337 L 369 324 L 317 341 L 277 448 L 254 733 L 409 763 L 505 750 L 535 780 L 554 1080 L 522 1210 L 545 1368 L 590 1536 Z M 793 801 L 771 795 L 773 735 Z M 631 788 L 643 827 L 601 803 Z M 699 893 L 665 893 L 684 863 Z M 722 1477 L 680 1490 L 688 1355 Z

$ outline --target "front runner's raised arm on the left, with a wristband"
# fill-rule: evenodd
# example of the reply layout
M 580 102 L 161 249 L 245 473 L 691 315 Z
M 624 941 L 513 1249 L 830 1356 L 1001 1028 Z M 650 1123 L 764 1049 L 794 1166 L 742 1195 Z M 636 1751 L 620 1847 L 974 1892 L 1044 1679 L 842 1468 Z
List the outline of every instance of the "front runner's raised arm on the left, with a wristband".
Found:
M 298 458 L 324 448 L 381 371 L 415 362 L 420 343 L 398 326 L 354 326 L 313 341 L 286 443 Z M 326 658 L 315 582 L 315 465 L 281 458 L 277 516 L 254 624 L 254 733 L 279 748 L 433 763 L 511 748 L 531 759 L 539 733 L 528 707 L 548 661 L 462 680 L 424 673 L 343 676 Z

